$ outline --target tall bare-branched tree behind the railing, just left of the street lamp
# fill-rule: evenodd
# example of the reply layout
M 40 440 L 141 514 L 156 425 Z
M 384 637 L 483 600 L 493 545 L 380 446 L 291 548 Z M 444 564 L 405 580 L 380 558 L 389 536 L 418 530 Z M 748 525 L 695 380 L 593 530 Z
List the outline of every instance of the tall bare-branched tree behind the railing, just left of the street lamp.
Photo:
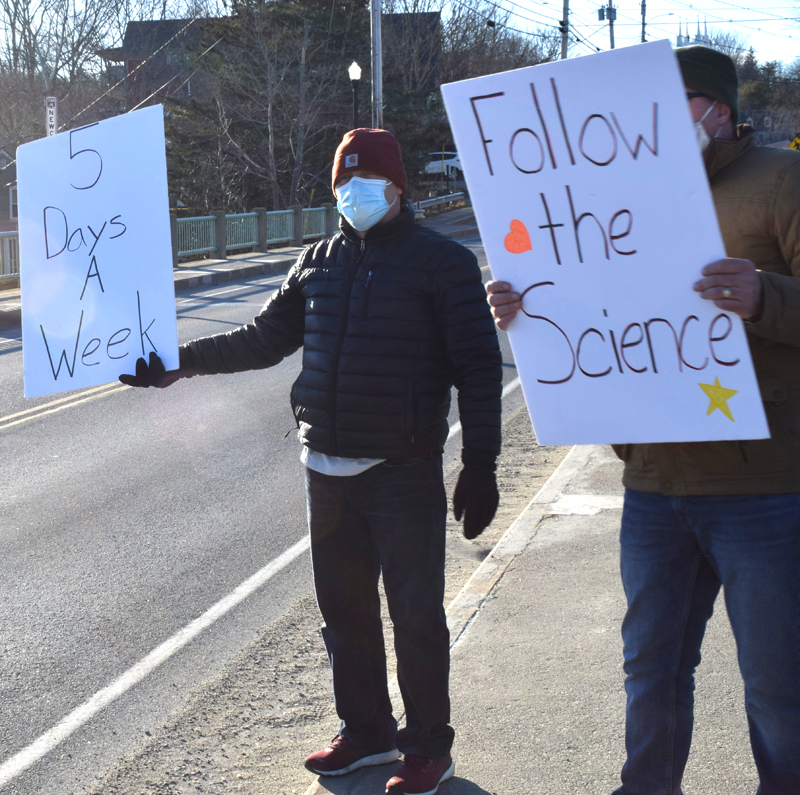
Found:
M 266 185 L 273 208 L 301 202 L 309 158 L 340 124 L 343 83 L 332 34 L 312 26 L 294 5 L 239 8 L 207 26 L 222 43 L 195 57 L 209 97 L 194 105 L 225 142 L 219 157 L 238 163 L 251 187 Z M 339 84 L 339 86 L 337 86 Z M 243 183 L 245 189 L 245 183 Z

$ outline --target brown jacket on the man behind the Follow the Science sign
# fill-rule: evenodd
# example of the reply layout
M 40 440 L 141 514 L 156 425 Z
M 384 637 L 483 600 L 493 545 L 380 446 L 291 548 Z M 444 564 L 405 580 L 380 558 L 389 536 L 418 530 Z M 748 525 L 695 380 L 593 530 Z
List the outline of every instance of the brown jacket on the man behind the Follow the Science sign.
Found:
M 771 439 L 617 445 L 628 488 L 668 495 L 800 492 L 800 153 L 759 147 L 749 128 L 706 153 L 729 257 L 760 271 L 764 305 L 746 323 Z

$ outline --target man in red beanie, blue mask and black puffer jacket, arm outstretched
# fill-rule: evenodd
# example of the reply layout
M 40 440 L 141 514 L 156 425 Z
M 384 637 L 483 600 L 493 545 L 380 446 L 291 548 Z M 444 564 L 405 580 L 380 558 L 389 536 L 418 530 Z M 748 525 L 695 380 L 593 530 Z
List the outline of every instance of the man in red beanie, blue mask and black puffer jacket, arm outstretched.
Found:
M 342 775 L 405 755 L 387 792 L 432 793 L 453 775 L 442 451 L 458 390 L 464 468 L 453 503 L 475 538 L 497 509 L 501 357 L 474 255 L 414 220 L 400 147 L 345 135 L 333 166 L 341 232 L 306 249 L 255 320 L 155 354 L 134 386 L 236 373 L 303 348 L 291 401 L 306 465 L 311 553 L 339 733 L 306 767 Z M 392 617 L 406 726 L 386 682 L 378 578 Z

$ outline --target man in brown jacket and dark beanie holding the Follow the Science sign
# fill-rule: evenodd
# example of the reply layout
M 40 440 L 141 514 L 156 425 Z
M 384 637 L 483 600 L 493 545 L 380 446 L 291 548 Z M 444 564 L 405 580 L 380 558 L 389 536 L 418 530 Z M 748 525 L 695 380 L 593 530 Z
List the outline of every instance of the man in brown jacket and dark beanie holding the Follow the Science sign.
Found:
M 758 795 L 789 795 L 800 793 L 800 155 L 758 147 L 737 127 L 730 58 L 700 46 L 677 55 L 728 255 L 694 289 L 743 318 L 772 438 L 615 448 L 628 600 L 627 761 L 615 795 L 681 793 L 694 669 L 723 585 Z M 507 328 L 519 293 L 486 289 Z

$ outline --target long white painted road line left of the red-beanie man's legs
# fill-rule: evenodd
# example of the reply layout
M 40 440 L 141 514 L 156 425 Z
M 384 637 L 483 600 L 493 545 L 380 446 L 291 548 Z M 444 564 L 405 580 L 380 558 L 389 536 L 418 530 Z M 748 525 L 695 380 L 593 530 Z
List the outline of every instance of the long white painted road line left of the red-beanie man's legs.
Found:
M 261 571 L 256 572 L 252 577 L 245 580 L 236 590 L 228 596 L 220 599 L 213 607 L 206 610 L 203 615 L 196 618 L 182 630 L 175 633 L 169 640 L 164 641 L 158 648 L 153 649 L 144 659 L 129 668 L 122 676 L 113 681 L 107 687 L 95 693 L 88 701 L 85 701 L 76 709 L 72 710 L 65 718 L 57 723 L 48 732 L 32 742 L 26 748 L 14 754 L 0 765 L 0 787 L 4 787 L 9 781 L 16 778 L 20 773 L 29 768 L 32 764 L 41 759 L 45 754 L 52 751 L 56 746 L 67 739 L 73 732 L 77 731 L 87 721 L 91 720 L 100 710 L 107 707 L 112 701 L 125 694 L 134 685 L 141 682 L 146 676 L 151 674 L 161 663 L 168 660 L 177 651 L 194 640 L 201 632 L 208 629 L 217 619 L 222 618 L 226 613 L 243 602 L 254 591 L 268 582 L 282 569 L 286 568 L 292 561 L 302 555 L 309 547 L 309 537 L 306 535 L 294 546 L 289 547 L 282 555 L 268 563 Z

